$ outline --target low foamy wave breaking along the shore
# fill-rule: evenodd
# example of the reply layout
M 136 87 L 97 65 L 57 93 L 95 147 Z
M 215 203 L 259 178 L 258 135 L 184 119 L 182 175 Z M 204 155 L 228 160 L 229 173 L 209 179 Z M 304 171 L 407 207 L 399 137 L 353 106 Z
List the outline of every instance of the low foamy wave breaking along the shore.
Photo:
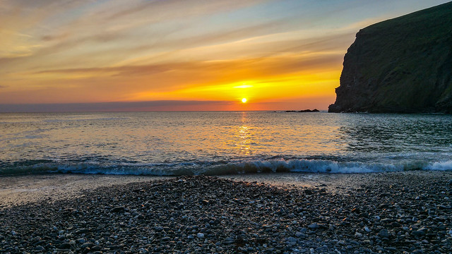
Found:
M 446 162 L 338 162 L 333 159 L 249 159 L 232 162 L 57 162 L 30 160 L 0 162 L 0 175 L 20 174 L 116 174 L 116 175 L 227 175 L 276 172 L 304 172 L 327 174 L 356 174 L 409 170 L 452 170 L 452 161 Z

